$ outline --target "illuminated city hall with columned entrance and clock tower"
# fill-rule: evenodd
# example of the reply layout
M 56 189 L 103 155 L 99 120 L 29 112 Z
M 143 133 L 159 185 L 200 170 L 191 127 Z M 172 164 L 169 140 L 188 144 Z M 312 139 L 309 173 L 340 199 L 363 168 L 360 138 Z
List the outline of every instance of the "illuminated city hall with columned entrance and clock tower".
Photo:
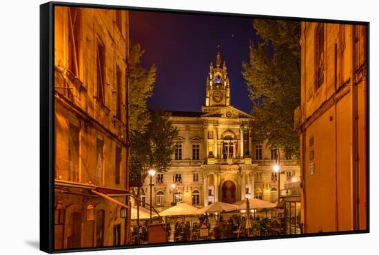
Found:
M 205 105 L 200 112 L 171 111 L 178 129 L 170 169 L 156 173 L 152 206 L 164 210 L 184 201 L 207 206 L 215 201 L 235 203 L 246 197 L 278 200 L 278 178 L 272 168 L 280 155 L 280 190 L 300 180 L 300 166 L 284 159 L 284 152 L 266 144 L 252 144 L 252 115 L 230 104 L 227 66 L 211 63 L 205 87 Z M 296 179 L 295 179 L 296 178 Z M 150 202 L 150 177 L 145 179 L 141 203 Z M 282 196 L 281 196 L 282 197 Z

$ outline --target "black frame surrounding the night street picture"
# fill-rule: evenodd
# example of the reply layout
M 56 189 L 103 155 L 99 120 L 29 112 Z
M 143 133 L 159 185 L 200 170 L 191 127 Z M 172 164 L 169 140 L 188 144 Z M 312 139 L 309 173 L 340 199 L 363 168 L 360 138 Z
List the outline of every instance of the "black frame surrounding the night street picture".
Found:
M 85 8 L 139 10 L 148 12 L 167 12 L 174 14 L 197 14 L 216 16 L 245 16 L 259 19 L 279 19 L 289 21 L 313 21 L 325 23 L 345 23 L 353 25 L 367 26 L 367 229 L 344 232 L 320 232 L 300 235 L 285 236 L 263 236 L 238 240 L 212 240 L 196 242 L 176 242 L 158 243 L 143 245 L 123 245 L 116 247 L 89 247 L 65 250 L 54 249 L 54 7 L 55 6 L 76 6 Z M 203 12 L 193 10 L 170 10 L 158 8 L 138 8 L 120 5 L 101 5 L 90 3 L 65 3 L 48 2 L 40 5 L 40 250 L 48 253 L 62 252 L 84 252 L 93 250 L 119 250 L 139 247 L 160 247 L 171 245 L 193 245 L 201 243 L 226 243 L 236 241 L 253 241 L 259 239 L 288 239 L 309 236 L 333 236 L 340 234 L 365 234 L 370 232 L 370 197 L 369 197 L 369 89 L 370 89 L 370 69 L 369 69 L 369 22 L 362 21 L 341 21 L 334 19 L 309 19 L 290 16 L 266 16 L 254 14 L 235 14 L 221 12 Z

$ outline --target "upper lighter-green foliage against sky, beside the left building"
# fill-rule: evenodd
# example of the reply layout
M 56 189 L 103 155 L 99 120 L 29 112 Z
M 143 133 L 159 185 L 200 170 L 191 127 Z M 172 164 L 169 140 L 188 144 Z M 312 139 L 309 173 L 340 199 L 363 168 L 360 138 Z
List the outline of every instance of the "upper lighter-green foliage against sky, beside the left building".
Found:
M 156 67 L 145 69 L 141 57 L 145 53 L 139 44 L 130 43 L 129 48 L 129 130 L 131 134 L 144 132 L 150 122 L 147 98 L 153 93 Z

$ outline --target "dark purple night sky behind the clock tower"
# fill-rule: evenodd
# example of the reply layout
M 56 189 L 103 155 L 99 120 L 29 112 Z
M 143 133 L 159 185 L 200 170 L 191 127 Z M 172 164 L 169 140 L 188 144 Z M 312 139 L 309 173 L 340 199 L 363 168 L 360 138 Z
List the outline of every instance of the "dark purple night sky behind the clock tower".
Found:
M 130 38 L 145 49 L 144 67 L 157 67 L 150 109 L 201 111 L 209 63 L 217 45 L 226 61 L 231 104 L 249 112 L 251 101 L 241 74 L 249 41 L 258 40 L 252 18 L 130 11 Z

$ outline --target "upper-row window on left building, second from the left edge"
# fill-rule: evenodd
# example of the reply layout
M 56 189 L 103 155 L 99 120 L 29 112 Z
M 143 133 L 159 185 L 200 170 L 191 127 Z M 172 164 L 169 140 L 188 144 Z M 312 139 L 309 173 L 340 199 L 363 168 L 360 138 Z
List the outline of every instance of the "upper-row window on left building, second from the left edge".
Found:
M 101 38 L 97 37 L 96 44 L 96 87 L 97 99 L 105 103 L 105 45 Z

